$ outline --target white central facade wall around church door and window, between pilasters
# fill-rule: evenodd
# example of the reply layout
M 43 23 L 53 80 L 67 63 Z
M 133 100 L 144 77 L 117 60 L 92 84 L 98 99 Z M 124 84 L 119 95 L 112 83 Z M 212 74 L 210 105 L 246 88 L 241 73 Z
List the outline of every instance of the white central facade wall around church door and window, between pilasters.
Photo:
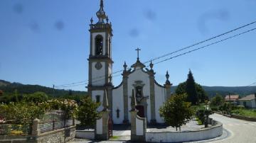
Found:
M 129 74 L 128 76 L 128 110 L 131 110 L 131 96 L 132 96 L 132 89 L 134 89 L 133 84 L 135 84 L 135 81 L 142 81 L 142 84 L 145 84 L 143 86 L 143 94 L 144 96 L 150 96 L 150 88 L 149 88 L 149 74 L 144 73 L 142 70 L 136 70 L 132 74 Z M 135 90 L 134 90 L 135 91 Z M 147 112 L 146 120 L 148 122 L 151 120 L 151 111 L 150 111 L 150 97 L 146 100 L 147 110 L 144 112 Z M 130 113 L 128 113 L 128 119 L 131 119 Z

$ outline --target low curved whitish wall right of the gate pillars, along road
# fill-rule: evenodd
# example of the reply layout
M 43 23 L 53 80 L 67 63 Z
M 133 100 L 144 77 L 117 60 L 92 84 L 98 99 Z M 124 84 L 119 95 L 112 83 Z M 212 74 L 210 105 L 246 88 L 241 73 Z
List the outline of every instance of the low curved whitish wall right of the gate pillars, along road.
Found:
M 223 134 L 223 125 L 213 120 L 211 127 L 185 132 L 146 132 L 146 142 L 191 142 L 212 139 Z

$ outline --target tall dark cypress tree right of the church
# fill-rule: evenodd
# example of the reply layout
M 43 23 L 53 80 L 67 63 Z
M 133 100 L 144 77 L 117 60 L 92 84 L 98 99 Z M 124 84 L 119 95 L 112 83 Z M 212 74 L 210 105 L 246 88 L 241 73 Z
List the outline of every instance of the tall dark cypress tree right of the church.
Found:
M 196 82 L 193 79 L 193 74 L 190 69 L 188 72 L 188 79 L 186 80 L 186 93 L 188 94 L 188 102 L 196 105 L 198 103 L 198 93 L 196 92 Z

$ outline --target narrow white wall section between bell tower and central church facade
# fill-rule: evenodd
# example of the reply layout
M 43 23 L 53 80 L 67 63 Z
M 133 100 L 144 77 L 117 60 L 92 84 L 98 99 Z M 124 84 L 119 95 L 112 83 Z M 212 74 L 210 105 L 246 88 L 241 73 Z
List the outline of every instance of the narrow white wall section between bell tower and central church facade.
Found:
M 124 120 L 124 96 L 123 86 L 119 86 L 112 91 L 112 120 L 114 124 L 122 124 Z M 117 118 L 117 108 L 119 111 L 119 118 Z

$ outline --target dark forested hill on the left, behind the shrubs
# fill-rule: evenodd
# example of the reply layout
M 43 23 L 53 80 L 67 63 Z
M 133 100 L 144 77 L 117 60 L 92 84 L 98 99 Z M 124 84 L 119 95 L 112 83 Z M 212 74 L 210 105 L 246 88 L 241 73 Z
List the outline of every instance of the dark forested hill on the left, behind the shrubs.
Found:
M 46 86 L 29 85 L 20 83 L 11 83 L 9 81 L 0 80 L 0 90 L 5 95 L 9 95 L 17 91 L 19 94 L 31 94 L 37 91 L 46 93 L 48 96 L 66 96 L 66 95 L 87 95 L 85 91 L 68 91 L 64 89 L 54 89 Z

